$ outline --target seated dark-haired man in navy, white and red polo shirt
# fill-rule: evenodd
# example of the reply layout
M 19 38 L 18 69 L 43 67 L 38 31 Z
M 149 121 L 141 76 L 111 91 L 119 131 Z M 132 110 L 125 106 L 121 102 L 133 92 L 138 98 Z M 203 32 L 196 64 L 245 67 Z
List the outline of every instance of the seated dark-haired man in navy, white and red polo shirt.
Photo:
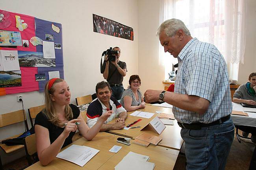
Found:
M 98 98 L 93 100 L 87 109 L 87 125 L 92 127 L 98 121 L 99 117 L 112 111 L 108 119 L 102 124 L 100 131 L 123 129 L 125 126 L 125 119 L 127 117 L 126 110 L 122 105 L 111 96 L 111 88 L 108 82 L 98 82 L 96 85 L 96 95 Z M 114 124 L 107 124 L 111 120 L 117 118 Z

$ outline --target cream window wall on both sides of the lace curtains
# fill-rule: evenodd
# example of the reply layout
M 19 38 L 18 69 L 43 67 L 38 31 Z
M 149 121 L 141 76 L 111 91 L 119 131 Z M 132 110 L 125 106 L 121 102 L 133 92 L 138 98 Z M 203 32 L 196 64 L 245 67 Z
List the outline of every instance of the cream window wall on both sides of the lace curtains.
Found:
M 256 1 L 247 0 L 247 42 L 244 64 L 239 64 L 238 84 L 247 82 L 248 76 L 256 72 Z M 141 91 L 147 89 L 163 90 L 165 69 L 159 58 L 158 37 L 160 1 L 138 1 L 138 61 L 139 75 L 142 81 Z M 192 35 L 193 37 L 193 35 Z M 171 56 L 170 56 L 171 57 Z M 237 70 L 238 71 L 238 70 Z M 144 86 L 145 85 L 145 86 Z

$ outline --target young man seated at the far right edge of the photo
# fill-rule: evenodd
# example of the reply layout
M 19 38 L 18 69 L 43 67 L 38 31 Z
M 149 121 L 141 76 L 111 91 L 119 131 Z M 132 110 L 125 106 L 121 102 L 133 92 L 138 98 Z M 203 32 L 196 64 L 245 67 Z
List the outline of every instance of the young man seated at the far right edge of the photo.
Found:
M 252 106 L 256 106 L 256 73 L 250 73 L 249 82 L 242 84 L 235 91 L 233 96 L 233 102 L 245 103 Z M 243 131 L 243 136 L 247 137 L 249 133 L 252 133 L 251 140 L 256 143 L 256 127 L 236 125 L 236 127 Z

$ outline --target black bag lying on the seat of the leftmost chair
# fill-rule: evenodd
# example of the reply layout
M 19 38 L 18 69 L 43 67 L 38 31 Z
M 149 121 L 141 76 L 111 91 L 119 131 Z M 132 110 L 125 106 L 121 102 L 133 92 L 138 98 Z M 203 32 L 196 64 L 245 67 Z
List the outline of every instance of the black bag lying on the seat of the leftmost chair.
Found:
M 3 141 L 0 142 L 0 144 L 6 144 L 7 146 L 24 144 L 24 139 L 27 136 L 32 135 L 33 133 L 35 133 L 34 127 L 32 127 L 29 131 L 22 133 L 22 135 L 20 135 L 19 137 L 13 138 L 13 139 L 3 140 Z

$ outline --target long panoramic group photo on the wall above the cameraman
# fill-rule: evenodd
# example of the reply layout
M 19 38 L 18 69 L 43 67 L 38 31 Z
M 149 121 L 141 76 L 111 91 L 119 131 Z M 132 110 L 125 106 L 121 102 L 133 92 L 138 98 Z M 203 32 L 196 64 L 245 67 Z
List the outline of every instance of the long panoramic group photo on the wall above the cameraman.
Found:
M 134 40 L 134 29 L 119 22 L 93 14 L 93 32 Z

